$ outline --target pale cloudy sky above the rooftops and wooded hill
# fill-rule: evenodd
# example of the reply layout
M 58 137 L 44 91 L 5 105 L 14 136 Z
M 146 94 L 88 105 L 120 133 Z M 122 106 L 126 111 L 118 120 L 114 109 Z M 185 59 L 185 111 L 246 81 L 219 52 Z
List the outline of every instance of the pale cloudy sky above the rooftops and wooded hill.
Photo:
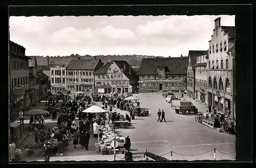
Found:
M 178 57 L 208 50 L 214 20 L 235 16 L 11 16 L 10 40 L 27 56 L 148 55 Z

